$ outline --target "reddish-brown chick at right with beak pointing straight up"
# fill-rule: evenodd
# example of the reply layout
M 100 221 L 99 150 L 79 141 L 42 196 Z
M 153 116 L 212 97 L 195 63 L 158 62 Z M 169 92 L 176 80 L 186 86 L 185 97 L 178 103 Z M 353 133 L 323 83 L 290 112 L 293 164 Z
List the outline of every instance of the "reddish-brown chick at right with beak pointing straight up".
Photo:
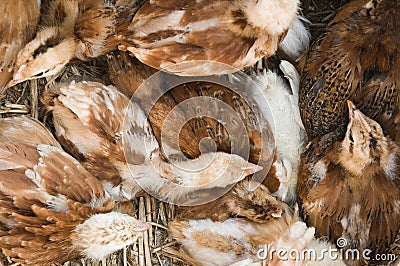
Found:
M 343 141 L 314 139 L 302 155 L 298 195 L 305 221 L 346 249 L 384 253 L 400 226 L 400 150 L 348 101 Z

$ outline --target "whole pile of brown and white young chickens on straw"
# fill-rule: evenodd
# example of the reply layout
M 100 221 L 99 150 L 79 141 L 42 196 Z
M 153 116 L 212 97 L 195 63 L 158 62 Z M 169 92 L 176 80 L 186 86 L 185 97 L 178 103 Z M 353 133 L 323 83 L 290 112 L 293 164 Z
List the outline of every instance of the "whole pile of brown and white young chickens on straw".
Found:
M 34 118 L 0 120 L 2 252 L 22 265 L 103 259 L 151 226 L 115 210 L 147 192 L 178 205 L 169 234 L 193 265 L 394 262 L 381 255 L 400 228 L 400 1 L 351 0 L 310 47 L 300 6 L 3 0 L 2 94 L 100 56 L 112 85 L 71 80 L 45 92 L 56 138 Z M 239 71 L 251 82 L 238 84 Z M 206 80 L 163 91 L 173 75 L 236 82 L 258 107 Z M 199 96 L 229 108 L 176 108 Z M 226 128 L 230 108 L 241 128 Z M 287 256 L 262 258 L 266 246 Z M 369 258 L 289 256 L 338 248 Z

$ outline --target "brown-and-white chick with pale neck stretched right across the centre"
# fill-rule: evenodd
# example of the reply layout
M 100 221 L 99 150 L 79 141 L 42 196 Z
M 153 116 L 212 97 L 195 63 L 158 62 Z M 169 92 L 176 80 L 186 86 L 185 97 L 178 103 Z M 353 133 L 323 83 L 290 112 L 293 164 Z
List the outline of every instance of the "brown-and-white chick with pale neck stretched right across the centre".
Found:
M 144 188 L 160 197 L 167 193 L 171 197 L 162 198 L 174 202 L 194 190 L 229 188 L 262 169 L 238 155 L 219 152 L 193 161 L 165 162 L 143 110 L 113 86 L 71 82 L 48 93 L 44 103 L 52 110 L 61 144 L 120 200 Z M 180 189 L 175 190 L 177 185 Z

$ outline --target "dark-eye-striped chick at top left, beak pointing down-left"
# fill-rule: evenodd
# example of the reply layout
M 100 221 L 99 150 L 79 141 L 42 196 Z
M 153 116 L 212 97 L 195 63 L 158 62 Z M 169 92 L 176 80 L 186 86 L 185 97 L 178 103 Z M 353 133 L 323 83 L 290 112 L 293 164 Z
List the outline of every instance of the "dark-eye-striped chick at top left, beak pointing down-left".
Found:
M 127 27 L 140 1 L 50 1 L 36 37 L 18 53 L 8 86 L 57 74 L 74 58 L 89 60 L 117 50 L 116 28 Z

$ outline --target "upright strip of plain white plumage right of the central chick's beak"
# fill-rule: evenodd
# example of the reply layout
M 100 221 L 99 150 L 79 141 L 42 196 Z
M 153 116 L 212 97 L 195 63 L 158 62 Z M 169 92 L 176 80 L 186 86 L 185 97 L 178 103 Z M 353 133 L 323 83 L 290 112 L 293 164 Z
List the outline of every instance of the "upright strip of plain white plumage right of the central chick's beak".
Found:
M 277 151 L 273 165 L 278 171 L 283 169 L 281 172 L 284 173 L 277 174 L 280 187 L 273 195 L 292 205 L 296 201 L 300 155 L 306 144 L 306 132 L 298 107 L 300 76 L 287 61 L 281 61 L 279 67 L 290 86 L 284 77 L 264 69 L 252 74 L 256 86 L 251 88 L 251 94 L 272 127 Z

